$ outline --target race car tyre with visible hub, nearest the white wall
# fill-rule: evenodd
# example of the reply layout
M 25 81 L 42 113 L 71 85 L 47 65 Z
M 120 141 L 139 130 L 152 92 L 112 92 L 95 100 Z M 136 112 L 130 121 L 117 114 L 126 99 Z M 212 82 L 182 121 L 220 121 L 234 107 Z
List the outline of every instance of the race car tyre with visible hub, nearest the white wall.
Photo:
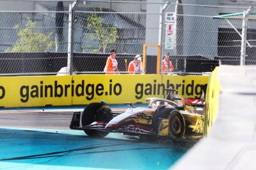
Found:
M 169 116 L 169 134 L 172 139 L 179 141 L 185 133 L 185 120 L 181 113 L 173 110 Z

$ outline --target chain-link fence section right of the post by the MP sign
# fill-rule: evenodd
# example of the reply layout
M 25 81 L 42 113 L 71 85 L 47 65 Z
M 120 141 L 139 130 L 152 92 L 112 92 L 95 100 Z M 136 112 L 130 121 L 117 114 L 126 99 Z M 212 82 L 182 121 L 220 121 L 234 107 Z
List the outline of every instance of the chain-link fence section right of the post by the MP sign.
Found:
M 243 40 L 243 11 L 249 7 L 235 6 L 205 6 L 192 4 L 171 4 L 165 12 L 175 12 L 176 19 L 174 24 L 175 36 L 173 37 L 173 48 L 166 50 L 165 38 L 163 35 L 163 51 L 173 53 L 173 60 L 190 59 L 199 61 L 204 67 L 214 64 L 241 64 L 241 48 Z M 236 17 L 223 17 L 227 14 L 235 14 Z M 168 24 L 168 23 L 167 23 Z M 252 17 L 248 17 L 247 41 L 245 64 L 255 64 L 256 52 L 255 46 L 255 29 L 256 22 Z M 168 32 L 168 27 L 164 27 L 163 32 Z M 245 36 L 246 37 L 246 36 Z M 250 43 L 248 43 L 250 42 Z M 197 59 L 193 55 L 200 55 L 202 58 Z M 182 59 L 184 58 L 184 59 Z M 211 61 L 207 61 L 210 59 Z M 193 62 L 191 66 L 194 67 Z M 186 64 L 188 71 L 190 68 Z M 202 69 L 204 69 L 202 67 Z

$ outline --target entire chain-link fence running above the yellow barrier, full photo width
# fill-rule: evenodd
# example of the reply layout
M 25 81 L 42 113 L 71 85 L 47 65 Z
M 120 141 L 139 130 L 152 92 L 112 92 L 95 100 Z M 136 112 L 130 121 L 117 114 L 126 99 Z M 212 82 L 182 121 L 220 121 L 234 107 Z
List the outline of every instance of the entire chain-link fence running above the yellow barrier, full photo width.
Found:
M 246 10 L 157 1 L 0 1 L 0 74 L 57 74 L 67 66 L 64 73 L 104 74 L 113 49 L 118 73 L 128 73 L 145 44 L 160 44 L 161 56 L 170 53 L 172 73 L 239 65 L 244 52 L 244 64 L 255 64 L 255 20 L 248 17 L 243 39 L 242 15 L 220 17 Z M 148 73 L 162 65 L 156 48 L 146 57 Z

